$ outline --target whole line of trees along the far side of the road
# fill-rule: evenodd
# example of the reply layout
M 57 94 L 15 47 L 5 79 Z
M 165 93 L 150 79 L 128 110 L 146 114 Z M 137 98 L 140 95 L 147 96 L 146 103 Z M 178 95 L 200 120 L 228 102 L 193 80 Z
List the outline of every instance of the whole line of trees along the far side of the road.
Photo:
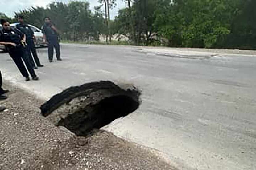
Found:
M 114 20 L 109 11 L 125 1 Z M 91 11 L 88 2 L 52 2 L 47 8 L 31 7 L 16 13 L 41 27 L 49 16 L 73 41 L 98 40 L 99 35 L 120 34 L 134 45 L 254 49 L 256 1 L 253 0 L 98 0 Z M 107 8 L 107 4 L 108 7 Z M 104 10 L 101 10 L 104 6 Z M 1 18 L 8 18 L 0 13 Z

